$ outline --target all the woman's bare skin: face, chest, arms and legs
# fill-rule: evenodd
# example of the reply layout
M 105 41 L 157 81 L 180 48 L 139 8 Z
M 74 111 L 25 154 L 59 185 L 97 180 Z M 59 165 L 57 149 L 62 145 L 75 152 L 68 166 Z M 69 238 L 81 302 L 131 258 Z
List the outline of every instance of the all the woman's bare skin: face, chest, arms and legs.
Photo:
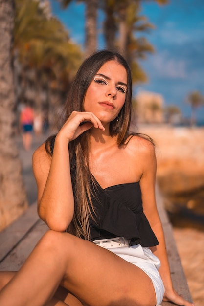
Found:
M 68 118 L 56 137 L 52 158 L 44 146 L 34 153 L 38 212 L 51 230 L 2 289 L 1 306 L 14 305 L 14 301 L 15 306 L 48 305 L 46 303 L 59 285 L 67 288 L 84 306 L 156 305 L 152 281 L 144 271 L 106 249 L 64 233 L 74 211 L 68 142 L 86 130 L 91 133 L 90 170 L 102 188 L 140 181 L 144 213 L 160 243 L 152 251 L 161 261 L 159 272 L 165 286 L 165 298 L 178 305 L 193 305 L 181 298 L 172 286 L 155 201 L 154 146 L 134 136 L 126 146 L 119 148 L 116 138 L 109 133 L 110 122 L 125 102 L 125 93 L 119 85 L 127 84 L 126 70 L 110 61 L 97 75 L 106 76 L 108 82 L 90 84 L 84 101 L 85 111 L 74 111 Z M 85 123 L 80 125 L 82 122 Z M 27 282 L 28 277 L 32 282 Z M 68 305 L 75 306 L 76 302 Z

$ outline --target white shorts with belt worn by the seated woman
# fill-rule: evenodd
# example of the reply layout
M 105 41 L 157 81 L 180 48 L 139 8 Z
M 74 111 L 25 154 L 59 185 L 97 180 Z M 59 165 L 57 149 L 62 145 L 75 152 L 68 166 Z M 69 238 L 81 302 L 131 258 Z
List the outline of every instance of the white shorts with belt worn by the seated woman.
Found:
M 132 245 L 129 247 L 128 241 L 125 238 L 119 237 L 116 239 L 122 239 L 122 243 L 120 241 L 118 247 L 118 242 L 114 242 L 115 238 L 113 240 L 110 239 L 110 242 L 108 239 L 101 239 L 94 241 L 94 243 L 105 247 L 127 262 L 131 262 L 142 269 L 151 278 L 154 285 L 157 301 L 156 306 L 161 304 L 164 295 L 164 285 L 158 271 L 160 267 L 160 261 L 157 256 L 155 256 L 148 247 L 142 247 L 140 244 Z M 123 243 L 123 240 L 125 240 L 125 243 Z M 105 243 L 103 241 L 105 241 Z

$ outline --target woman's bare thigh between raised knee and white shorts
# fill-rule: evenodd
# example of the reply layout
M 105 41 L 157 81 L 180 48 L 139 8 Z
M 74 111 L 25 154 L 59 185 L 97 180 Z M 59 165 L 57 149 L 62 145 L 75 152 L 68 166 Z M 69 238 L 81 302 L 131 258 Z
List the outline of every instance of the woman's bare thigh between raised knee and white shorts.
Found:
M 62 286 L 89 306 L 155 306 L 149 276 L 112 252 L 68 233 L 52 233 L 67 261 Z

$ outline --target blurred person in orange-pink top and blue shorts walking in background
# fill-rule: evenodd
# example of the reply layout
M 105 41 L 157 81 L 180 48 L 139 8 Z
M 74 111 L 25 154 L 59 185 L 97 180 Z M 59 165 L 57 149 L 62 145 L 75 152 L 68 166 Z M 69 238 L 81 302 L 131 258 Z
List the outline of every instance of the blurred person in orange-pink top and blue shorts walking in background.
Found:
M 23 147 L 29 151 L 32 144 L 34 111 L 29 104 L 25 105 L 20 114 L 20 129 L 23 134 Z

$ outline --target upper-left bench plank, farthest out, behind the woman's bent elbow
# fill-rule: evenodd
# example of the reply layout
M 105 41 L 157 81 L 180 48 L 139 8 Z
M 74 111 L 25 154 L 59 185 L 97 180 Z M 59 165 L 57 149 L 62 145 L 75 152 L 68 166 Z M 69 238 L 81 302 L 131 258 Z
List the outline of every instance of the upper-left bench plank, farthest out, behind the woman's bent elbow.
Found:
M 30 205 L 22 216 L 0 232 L 0 262 L 39 220 L 36 205 Z

